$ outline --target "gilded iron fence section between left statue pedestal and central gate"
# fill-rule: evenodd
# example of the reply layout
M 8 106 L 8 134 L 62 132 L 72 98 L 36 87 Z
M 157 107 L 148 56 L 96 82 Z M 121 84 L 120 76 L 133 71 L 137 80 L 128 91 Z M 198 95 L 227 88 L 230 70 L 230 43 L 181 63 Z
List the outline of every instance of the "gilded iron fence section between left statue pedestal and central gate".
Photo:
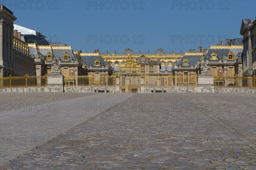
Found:
M 65 86 L 115 86 L 116 76 L 64 76 Z

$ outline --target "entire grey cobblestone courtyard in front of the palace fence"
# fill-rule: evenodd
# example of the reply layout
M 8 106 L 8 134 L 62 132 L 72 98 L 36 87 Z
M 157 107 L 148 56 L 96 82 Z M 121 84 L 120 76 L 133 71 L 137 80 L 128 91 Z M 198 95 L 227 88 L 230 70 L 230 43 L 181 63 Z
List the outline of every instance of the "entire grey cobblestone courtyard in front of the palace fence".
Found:
M 1 170 L 256 169 L 255 94 L 0 94 Z

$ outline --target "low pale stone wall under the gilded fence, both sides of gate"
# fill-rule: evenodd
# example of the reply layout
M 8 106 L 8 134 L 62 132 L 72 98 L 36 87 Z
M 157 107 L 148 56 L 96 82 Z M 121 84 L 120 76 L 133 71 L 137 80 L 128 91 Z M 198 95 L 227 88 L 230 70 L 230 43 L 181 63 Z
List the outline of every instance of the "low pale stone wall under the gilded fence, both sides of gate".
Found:
M 95 87 L 95 86 L 46 86 L 46 87 L 17 87 L 17 88 L 0 88 L 0 93 L 8 92 L 76 92 L 76 93 L 120 93 L 119 88 Z M 140 93 L 256 93 L 256 88 L 232 88 L 232 87 L 144 87 Z

